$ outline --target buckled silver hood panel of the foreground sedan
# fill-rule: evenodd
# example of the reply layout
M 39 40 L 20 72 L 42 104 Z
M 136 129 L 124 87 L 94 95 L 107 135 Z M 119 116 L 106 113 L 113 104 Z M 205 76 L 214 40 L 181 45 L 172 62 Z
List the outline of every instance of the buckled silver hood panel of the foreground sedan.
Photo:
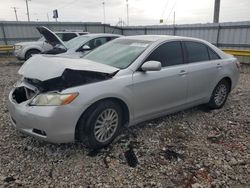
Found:
M 61 76 L 65 69 L 108 74 L 112 74 L 119 70 L 115 67 L 86 59 L 72 59 L 72 57 L 63 58 L 53 55 L 34 55 L 23 64 L 18 73 L 26 78 L 45 81 Z

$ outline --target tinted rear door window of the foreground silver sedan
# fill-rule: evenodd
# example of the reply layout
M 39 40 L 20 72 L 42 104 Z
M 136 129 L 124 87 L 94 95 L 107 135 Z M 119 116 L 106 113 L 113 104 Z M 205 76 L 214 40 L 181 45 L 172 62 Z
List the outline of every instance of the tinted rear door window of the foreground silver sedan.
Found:
M 209 55 L 207 46 L 198 42 L 184 42 L 187 50 L 188 62 L 208 61 Z

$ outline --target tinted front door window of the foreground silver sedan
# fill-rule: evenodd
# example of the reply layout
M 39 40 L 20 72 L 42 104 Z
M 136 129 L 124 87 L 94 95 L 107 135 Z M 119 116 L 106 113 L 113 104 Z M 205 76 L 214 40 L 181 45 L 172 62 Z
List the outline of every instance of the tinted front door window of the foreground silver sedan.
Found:
M 162 67 L 183 64 L 181 43 L 173 41 L 160 45 L 148 56 L 146 61 L 159 61 Z

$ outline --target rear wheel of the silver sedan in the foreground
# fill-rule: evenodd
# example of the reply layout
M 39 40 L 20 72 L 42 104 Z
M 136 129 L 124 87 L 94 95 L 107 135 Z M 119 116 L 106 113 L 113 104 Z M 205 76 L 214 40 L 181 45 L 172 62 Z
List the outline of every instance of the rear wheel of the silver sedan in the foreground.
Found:
M 229 83 L 226 80 L 221 80 L 213 90 L 208 107 L 210 109 L 222 108 L 227 100 L 229 92 Z

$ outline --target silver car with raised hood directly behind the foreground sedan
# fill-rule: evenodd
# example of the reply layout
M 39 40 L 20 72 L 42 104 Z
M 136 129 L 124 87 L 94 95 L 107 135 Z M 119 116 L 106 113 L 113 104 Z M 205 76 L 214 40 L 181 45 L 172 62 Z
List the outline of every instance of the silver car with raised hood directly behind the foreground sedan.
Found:
M 46 27 L 37 27 L 37 29 L 44 36 L 46 41 L 53 46 L 52 49 L 44 51 L 42 54 L 60 54 L 60 56 L 64 57 L 82 57 L 91 50 L 113 39 L 121 37 L 121 35 L 117 34 L 95 33 L 81 35 L 64 42 Z

